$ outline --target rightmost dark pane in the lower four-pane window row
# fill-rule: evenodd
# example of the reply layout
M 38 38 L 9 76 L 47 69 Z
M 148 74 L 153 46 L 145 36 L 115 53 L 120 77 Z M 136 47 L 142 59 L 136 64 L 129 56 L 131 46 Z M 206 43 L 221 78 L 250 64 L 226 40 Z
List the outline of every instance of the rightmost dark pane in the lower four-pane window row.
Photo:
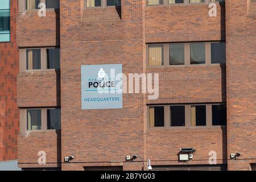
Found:
M 226 105 L 212 105 L 212 126 L 226 125 Z

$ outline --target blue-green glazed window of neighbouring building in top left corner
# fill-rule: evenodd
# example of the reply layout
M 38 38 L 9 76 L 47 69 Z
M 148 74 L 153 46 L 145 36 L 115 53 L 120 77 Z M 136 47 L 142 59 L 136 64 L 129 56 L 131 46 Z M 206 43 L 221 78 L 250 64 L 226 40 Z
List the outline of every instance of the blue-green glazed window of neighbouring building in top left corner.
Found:
M 10 42 L 10 1 L 0 1 L 0 42 Z

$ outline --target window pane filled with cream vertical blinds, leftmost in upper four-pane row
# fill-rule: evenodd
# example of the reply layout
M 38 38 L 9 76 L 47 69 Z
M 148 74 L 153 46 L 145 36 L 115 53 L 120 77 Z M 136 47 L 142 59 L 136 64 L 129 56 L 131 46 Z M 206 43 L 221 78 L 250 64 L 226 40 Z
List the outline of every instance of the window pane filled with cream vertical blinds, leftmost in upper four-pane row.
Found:
M 148 46 L 148 65 L 163 65 L 163 46 Z

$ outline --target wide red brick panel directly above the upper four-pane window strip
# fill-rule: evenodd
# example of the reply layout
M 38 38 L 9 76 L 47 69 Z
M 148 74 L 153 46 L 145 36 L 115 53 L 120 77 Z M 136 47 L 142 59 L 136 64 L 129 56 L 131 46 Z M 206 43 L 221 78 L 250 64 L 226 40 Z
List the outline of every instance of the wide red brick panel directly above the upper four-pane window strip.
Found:
M 225 40 L 225 4 L 217 4 L 217 17 L 208 5 L 146 7 L 146 42 Z

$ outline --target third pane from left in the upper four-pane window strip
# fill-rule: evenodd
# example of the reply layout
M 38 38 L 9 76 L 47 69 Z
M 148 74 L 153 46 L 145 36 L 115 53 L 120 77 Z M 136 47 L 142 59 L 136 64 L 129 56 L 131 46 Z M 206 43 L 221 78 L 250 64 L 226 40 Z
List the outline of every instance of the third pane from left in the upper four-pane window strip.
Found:
M 190 44 L 190 63 L 205 64 L 205 43 Z

